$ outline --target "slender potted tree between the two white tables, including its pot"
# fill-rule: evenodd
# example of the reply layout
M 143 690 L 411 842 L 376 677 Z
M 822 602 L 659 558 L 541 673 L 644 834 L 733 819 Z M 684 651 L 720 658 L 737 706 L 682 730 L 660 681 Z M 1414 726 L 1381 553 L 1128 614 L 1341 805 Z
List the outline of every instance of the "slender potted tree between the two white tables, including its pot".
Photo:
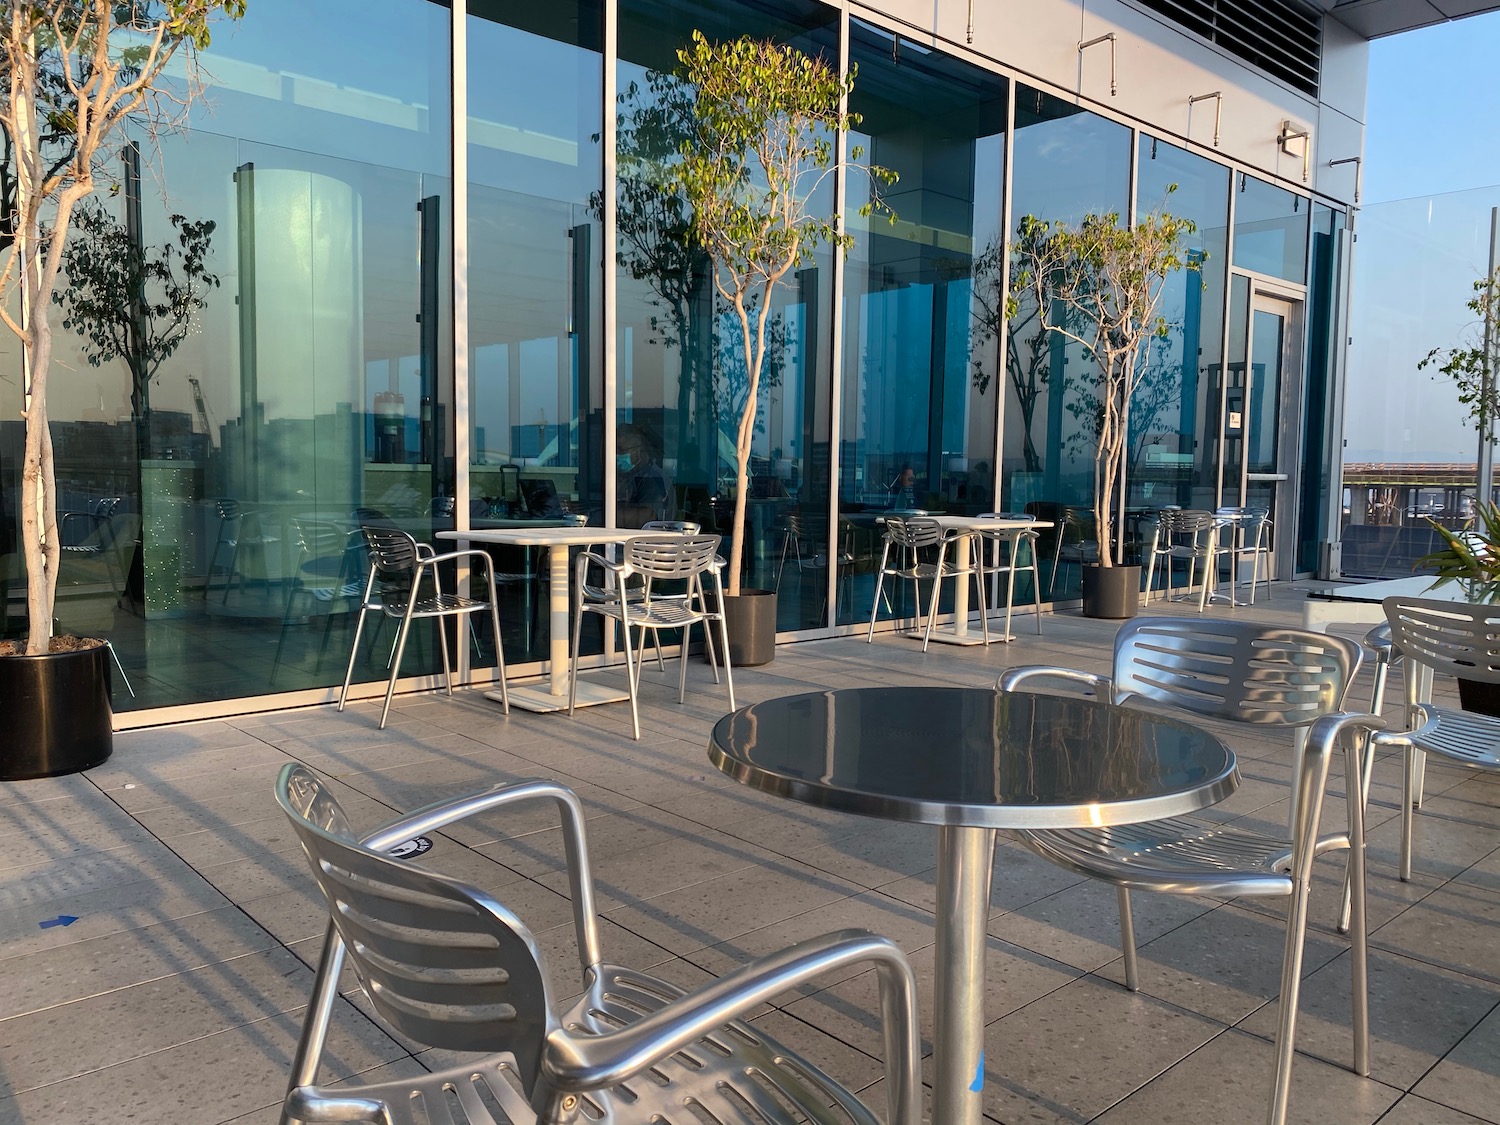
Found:
M 712 262 L 711 278 L 740 327 L 744 381 L 735 402 L 735 495 L 726 624 L 736 663 L 764 664 L 776 651 L 776 591 L 742 585 L 750 452 L 774 338 L 776 286 L 822 243 L 854 244 L 837 214 L 812 207 L 813 189 L 843 160 L 840 135 L 860 123 L 844 111 L 855 69 L 838 74 L 794 46 L 744 36 L 710 44 L 702 32 L 678 51 L 678 76 L 693 94 L 690 135 L 678 148 L 674 188 L 692 214 L 688 238 Z M 896 176 L 866 166 L 876 183 Z M 878 192 L 861 214 L 890 214 Z M 894 220 L 894 214 L 891 219 Z

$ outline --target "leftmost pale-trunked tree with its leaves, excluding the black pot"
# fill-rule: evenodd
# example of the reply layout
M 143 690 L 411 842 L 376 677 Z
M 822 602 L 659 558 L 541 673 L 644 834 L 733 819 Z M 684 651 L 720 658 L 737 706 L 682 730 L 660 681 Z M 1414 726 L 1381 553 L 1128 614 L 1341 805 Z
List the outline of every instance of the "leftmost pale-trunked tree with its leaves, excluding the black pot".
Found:
M 15 171 L 12 242 L 0 296 L 20 290 L 16 316 L 0 318 L 26 348 L 26 452 L 21 459 L 21 549 L 27 572 L 27 652 L 51 646 L 62 542 L 57 474 L 48 424 L 52 291 L 78 204 L 98 186 L 99 166 L 128 120 L 147 134 L 165 128 L 196 93 L 196 52 L 218 15 L 244 14 L 244 0 L 4 0 L 0 28 L 0 129 Z M 174 58 L 188 82 L 156 88 Z M 54 153 L 66 153 L 58 162 Z

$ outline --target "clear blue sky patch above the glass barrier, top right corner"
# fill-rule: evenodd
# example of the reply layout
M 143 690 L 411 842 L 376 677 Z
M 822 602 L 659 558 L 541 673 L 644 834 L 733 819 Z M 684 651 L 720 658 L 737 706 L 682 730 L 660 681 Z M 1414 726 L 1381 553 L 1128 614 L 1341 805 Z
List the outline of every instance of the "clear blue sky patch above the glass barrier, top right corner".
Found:
M 1364 202 L 1500 184 L 1500 14 L 1370 45 Z

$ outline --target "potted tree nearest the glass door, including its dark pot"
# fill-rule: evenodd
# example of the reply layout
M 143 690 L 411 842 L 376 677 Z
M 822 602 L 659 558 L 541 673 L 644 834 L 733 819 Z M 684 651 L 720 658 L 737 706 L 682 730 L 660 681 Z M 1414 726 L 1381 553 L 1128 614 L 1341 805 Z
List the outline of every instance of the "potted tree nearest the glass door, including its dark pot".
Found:
M 1118 212 L 1086 214 L 1077 225 L 1022 219 L 1012 252 L 1020 260 L 1018 286 L 1008 315 L 1020 314 L 1020 294 L 1035 303 L 1042 333 L 1083 348 L 1094 362 L 1092 384 L 1078 390 L 1094 424 L 1094 525 L 1098 562 L 1083 568 L 1083 612 L 1089 616 L 1134 616 L 1140 604 L 1140 567 L 1124 566 L 1124 543 L 1114 508 L 1130 442 L 1131 396 L 1146 378 L 1149 342 L 1168 332 L 1161 308 L 1167 274 L 1186 261 L 1185 240 L 1197 226 L 1166 210 L 1134 225 Z

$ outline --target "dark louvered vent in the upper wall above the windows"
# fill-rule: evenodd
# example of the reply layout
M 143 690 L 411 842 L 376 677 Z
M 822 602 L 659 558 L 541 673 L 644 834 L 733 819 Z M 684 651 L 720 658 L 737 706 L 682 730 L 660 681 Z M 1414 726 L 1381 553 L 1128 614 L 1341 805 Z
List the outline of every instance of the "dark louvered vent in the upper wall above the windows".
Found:
M 1317 98 L 1322 20 L 1287 0 L 1136 0 L 1236 58 Z

